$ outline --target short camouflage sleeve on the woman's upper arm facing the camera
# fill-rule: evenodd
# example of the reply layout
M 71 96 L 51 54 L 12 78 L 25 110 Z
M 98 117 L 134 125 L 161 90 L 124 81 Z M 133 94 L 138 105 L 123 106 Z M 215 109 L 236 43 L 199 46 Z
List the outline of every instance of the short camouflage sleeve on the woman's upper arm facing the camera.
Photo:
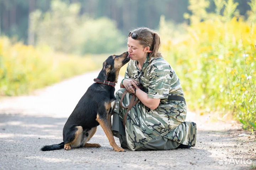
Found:
M 167 99 L 170 91 L 173 71 L 165 60 L 157 61 L 150 66 L 148 98 Z

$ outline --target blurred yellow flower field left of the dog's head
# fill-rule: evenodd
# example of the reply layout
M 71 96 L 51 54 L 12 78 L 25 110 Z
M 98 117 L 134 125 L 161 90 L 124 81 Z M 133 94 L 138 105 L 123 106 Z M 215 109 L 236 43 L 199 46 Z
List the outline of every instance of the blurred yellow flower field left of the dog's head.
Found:
M 95 61 L 95 58 L 97 60 Z M 0 95 L 31 92 L 65 78 L 102 67 L 106 55 L 78 57 L 54 53 L 48 46 L 12 44 L 0 38 Z

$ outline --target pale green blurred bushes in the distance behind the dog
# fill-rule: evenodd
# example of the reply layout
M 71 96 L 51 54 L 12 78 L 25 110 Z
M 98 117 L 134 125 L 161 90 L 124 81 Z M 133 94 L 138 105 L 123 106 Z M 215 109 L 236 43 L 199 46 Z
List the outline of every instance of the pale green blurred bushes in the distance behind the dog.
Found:
M 54 0 L 51 9 L 31 14 L 37 45 L 47 44 L 65 53 L 113 53 L 124 46 L 124 37 L 107 18 L 80 16 L 80 4 Z

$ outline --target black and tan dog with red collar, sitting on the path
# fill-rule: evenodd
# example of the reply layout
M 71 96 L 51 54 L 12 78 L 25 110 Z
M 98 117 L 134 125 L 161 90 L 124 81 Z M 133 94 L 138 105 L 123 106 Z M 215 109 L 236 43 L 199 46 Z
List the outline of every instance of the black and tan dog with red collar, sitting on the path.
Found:
M 87 89 L 66 121 L 63 128 L 63 142 L 44 146 L 41 150 L 101 147 L 98 143 L 87 143 L 95 134 L 97 126 L 101 125 L 113 149 L 117 152 L 125 151 L 114 141 L 111 131 L 111 114 L 115 106 L 114 100 L 116 100 L 114 85 L 120 68 L 129 60 L 128 52 L 107 58 L 97 79 L 94 79 L 96 83 Z

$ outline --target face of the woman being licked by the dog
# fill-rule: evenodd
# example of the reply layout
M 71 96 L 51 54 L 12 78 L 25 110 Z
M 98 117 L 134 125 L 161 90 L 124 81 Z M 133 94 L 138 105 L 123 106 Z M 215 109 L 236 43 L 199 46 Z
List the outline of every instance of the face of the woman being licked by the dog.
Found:
M 132 37 L 128 37 L 127 46 L 127 51 L 132 60 L 140 60 L 146 58 L 146 48 L 143 48 L 143 46 L 139 44 L 139 40 L 135 40 Z

